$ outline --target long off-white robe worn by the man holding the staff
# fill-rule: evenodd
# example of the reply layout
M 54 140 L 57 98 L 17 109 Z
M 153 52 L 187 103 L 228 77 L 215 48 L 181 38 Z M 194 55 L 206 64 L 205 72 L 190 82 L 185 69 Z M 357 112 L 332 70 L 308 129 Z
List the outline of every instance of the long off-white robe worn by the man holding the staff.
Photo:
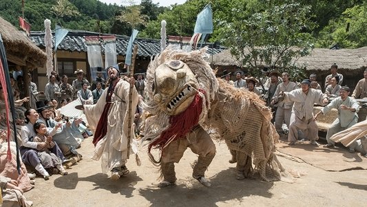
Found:
M 130 84 L 123 79 L 120 79 L 114 89 L 111 102 L 107 114 L 107 133 L 105 137 L 98 141 L 92 159 L 101 159 L 103 173 L 109 173 L 112 168 L 125 165 L 127 162 L 127 133 L 128 133 L 128 108 L 129 108 L 129 88 Z M 136 88 L 132 88 L 132 110 L 131 123 L 134 123 L 134 114 L 138 104 L 138 92 Z M 108 88 L 105 89 L 100 99 L 96 104 L 85 105 L 84 112 L 90 128 L 95 134 L 96 126 L 101 118 L 103 109 L 106 104 Z M 130 150 L 129 154 L 137 154 L 138 147 L 134 136 L 134 125 L 130 130 Z

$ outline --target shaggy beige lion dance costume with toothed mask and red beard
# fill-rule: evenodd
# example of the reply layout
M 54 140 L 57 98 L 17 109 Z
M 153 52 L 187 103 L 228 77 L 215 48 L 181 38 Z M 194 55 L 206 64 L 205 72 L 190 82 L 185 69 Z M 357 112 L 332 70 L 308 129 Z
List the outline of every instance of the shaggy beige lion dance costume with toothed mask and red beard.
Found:
M 143 106 L 145 139 L 151 161 L 160 164 L 163 181 L 175 184 L 174 162 L 178 163 L 187 147 L 198 154 L 193 177 L 210 186 L 205 170 L 216 154 L 212 138 L 224 140 L 237 161 L 237 177 L 250 176 L 255 170 L 266 181 L 280 179 L 284 170 L 274 154 L 279 137 L 271 124 L 271 111 L 253 93 L 238 90 L 217 79 L 203 58 L 206 49 L 182 52 L 167 48 L 151 61 L 147 69 Z M 215 131 L 209 136 L 207 131 Z M 158 148 L 158 160 L 151 149 Z

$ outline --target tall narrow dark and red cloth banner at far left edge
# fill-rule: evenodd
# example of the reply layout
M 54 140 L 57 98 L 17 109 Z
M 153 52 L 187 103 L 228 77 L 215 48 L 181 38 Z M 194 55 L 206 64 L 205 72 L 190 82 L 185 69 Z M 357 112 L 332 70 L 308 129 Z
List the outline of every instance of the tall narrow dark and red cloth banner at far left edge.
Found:
M 1 86 L 3 86 L 3 91 L 7 91 L 8 94 L 8 99 L 6 99 L 6 103 L 8 102 L 8 106 L 10 111 L 16 111 L 15 110 L 15 105 L 14 105 L 14 97 L 12 95 L 12 85 L 10 83 L 10 75 L 9 75 L 9 68 L 8 68 L 8 61 L 6 59 L 6 52 L 5 52 L 5 47 L 3 45 L 3 39 L 1 38 L 1 34 L 0 34 L 0 70 L 1 70 L 1 74 L 3 75 L 3 77 L 1 77 Z M 11 93 L 10 93 L 11 92 Z M 8 106 L 6 106 L 6 108 L 8 108 Z M 14 113 L 10 113 L 9 115 L 9 111 L 6 110 L 7 112 L 7 120 L 10 120 L 10 115 L 12 116 L 12 120 L 16 120 L 15 119 L 15 115 Z M 19 149 L 19 144 L 18 144 L 18 138 L 17 138 L 17 126 L 16 126 L 16 122 L 13 121 L 12 122 L 12 126 L 13 126 L 13 131 L 14 131 L 14 142 L 15 142 L 15 146 L 17 147 L 17 149 Z M 10 152 L 10 125 L 8 124 L 8 153 L 7 153 L 7 157 L 8 159 L 11 159 L 11 152 Z M 20 174 L 20 166 L 21 166 L 21 161 L 20 158 L 21 156 L 19 155 L 19 150 L 17 150 L 17 170 L 18 173 Z

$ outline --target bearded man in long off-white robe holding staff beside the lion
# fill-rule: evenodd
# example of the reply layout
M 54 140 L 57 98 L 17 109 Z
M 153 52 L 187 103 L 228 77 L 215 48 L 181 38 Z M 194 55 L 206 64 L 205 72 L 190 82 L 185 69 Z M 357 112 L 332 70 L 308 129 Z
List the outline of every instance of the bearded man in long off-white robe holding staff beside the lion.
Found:
M 129 154 L 137 153 L 135 139 L 128 146 L 128 133 L 134 137 L 134 128 L 128 128 L 128 122 L 134 122 L 134 114 L 138 103 L 138 92 L 133 87 L 132 100 L 129 100 L 130 84 L 134 84 L 134 78 L 125 81 L 118 77 L 118 65 L 107 68 L 110 79 L 109 87 L 105 89 L 100 99 L 94 105 L 85 105 L 84 112 L 90 128 L 94 130 L 93 144 L 96 147 L 92 159 L 101 159 L 103 173 L 111 173 L 111 179 L 119 179 L 127 175 L 129 170 L 125 164 Z M 128 111 L 129 102 L 132 111 Z M 131 117 L 128 114 L 131 113 Z M 129 118 L 131 120 L 129 120 Z M 137 156 L 137 155 L 136 155 Z

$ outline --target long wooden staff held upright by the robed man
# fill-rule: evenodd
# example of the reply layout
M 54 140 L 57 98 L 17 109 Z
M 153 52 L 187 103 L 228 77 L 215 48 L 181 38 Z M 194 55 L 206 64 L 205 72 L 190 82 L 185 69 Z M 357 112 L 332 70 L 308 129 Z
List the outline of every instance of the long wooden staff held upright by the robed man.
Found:
M 136 60 L 136 54 L 138 53 L 138 45 L 134 46 L 134 51 L 132 54 L 132 65 L 129 66 L 129 74 L 130 74 L 130 78 L 134 77 L 134 68 L 135 68 L 135 60 Z M 129 79 L 130 81 L 130 79 Z M 128 114 L 127 116 L 129 117 L 128 119 L 128 124 L 127 124 L 127 159 L 129 159 L 130 157 L 130 141 L 132 140 L 132 91 L 134 84 L 130 83 L 130 90 L 129 90 L 129 109 L 128 109 Z

